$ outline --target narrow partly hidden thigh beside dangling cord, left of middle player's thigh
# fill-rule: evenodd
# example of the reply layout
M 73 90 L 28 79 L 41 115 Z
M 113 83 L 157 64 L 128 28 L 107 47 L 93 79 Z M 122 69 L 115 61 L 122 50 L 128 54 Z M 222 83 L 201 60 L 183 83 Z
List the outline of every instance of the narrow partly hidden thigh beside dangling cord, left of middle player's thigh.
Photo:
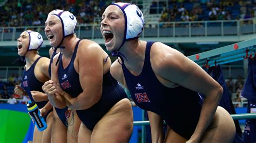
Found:
M 78 118 L 75 110 L 71 110 L 71 116 L 68 118 L 68 142 L 77 142 L 78 131 L 81 120 Z

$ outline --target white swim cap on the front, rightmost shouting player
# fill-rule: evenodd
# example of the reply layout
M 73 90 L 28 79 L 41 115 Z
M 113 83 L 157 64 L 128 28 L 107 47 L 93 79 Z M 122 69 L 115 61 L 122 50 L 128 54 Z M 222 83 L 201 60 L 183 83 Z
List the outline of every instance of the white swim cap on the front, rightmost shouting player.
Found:
M 112 5 L 117 5 L 124 14 L 126 35 L 124 41 L 138 38 L 145 25 L 142 11 L 138 6 L 130 3 L 113 3 Z

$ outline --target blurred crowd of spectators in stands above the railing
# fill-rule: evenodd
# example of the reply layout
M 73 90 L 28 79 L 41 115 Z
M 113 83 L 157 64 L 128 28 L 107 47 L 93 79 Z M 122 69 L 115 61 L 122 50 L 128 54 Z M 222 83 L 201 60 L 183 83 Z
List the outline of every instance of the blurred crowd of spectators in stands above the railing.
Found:
M 99 18 L 106 6 L 112 1 L 92 0 L 55 0 L 55 1 L 13 1 L 9 0 L 0 6 L 0 25 L 12 26 L 37 26 L 44 25 L 47 13 L 53 9 L 68 10 L 77 16 L 78 24 L 93 24 L 95 18 Z M 118 1 L 115 1 L 118 2 Z M 248 1 L 250 3 L 250 1 Z M 169 1 L 155 2 L 151 4 L 150 13 L 163 13 L 159 22 L 187 21 L 186 11 L 190 21 L 194 20 L 230 20 L 253 17 L 255 4 L 248 6 L 243 1 Z M 192 7 L 191 6 L 192 3 Z M 168 5 L 168 6 L 167 6 Z M 177 6 L 178 5 L 178 6 Z M 159 8 L 157 8 L 159 6 Z M 234 6 L 236 6 L 234 8 Z M 33 11 L 32 11 L 33 9 Z M 156 11 L 156 10 L 163 10 Z M 172 10 L 172 12 L 171 12 Z M 237 11 L 233 16 L 233 11 Z M 167 12 L 167 16 L 166 16 Z M 205 12 L 205 13 L 204 13 Z M 247 16 L 246 16 L 247 13 Z M 181 16 L 183 18 L 181 18 Z M 97 22 L 97 21 L 96 21 Z M 6 31 L 9 32 L 9 31 Z

